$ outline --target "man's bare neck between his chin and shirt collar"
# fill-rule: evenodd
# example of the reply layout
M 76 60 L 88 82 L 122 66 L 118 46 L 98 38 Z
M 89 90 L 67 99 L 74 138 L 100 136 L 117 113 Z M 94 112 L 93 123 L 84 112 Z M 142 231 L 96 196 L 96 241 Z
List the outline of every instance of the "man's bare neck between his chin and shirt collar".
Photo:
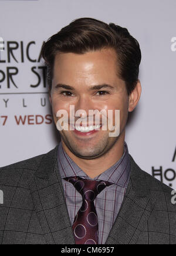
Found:
M 98 157 L 97 159 L 82 159 L 75 156 L 65 145 L 62 140 L 62 147 L 65 150 L 66 154 L 72 159 L 77 166 L 80 167 L 90 178 L 99 176 L 101 173 L 104 173 L 107 169 L 113 166 L 117 161 L 121 159 L 124 153 L 124 137 L 125 132 L 120 134 L 119 139 L 114 144 L 114 146 L 103 154 L 103 156 Z

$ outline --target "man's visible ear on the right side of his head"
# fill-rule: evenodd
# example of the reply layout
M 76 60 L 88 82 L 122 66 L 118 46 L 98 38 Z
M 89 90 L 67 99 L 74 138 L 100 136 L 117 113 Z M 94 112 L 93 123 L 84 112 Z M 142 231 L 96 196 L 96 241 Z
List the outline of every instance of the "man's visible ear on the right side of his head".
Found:
M 141 96 L 141 83 L 140 83 L 140 80 L 138 80 L 136 87 L 134 88 L 134 90 L 131 92 L 129 96 L 128 112 L 132 112 L 135 109 L 138 101 L 140 100 L 140 96 Z

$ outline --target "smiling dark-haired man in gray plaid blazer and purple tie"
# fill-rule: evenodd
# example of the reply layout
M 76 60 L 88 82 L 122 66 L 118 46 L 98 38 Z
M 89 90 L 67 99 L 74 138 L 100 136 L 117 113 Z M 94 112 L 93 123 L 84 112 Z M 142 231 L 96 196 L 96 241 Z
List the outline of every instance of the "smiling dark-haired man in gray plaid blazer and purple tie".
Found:
M 141 170 L 125 142 L 141 95 L 136 39 L 114 23 L 81 18 L 42 55 L 61 142 L 0 169 L 1 244 L 175 244 L 171 188 Z

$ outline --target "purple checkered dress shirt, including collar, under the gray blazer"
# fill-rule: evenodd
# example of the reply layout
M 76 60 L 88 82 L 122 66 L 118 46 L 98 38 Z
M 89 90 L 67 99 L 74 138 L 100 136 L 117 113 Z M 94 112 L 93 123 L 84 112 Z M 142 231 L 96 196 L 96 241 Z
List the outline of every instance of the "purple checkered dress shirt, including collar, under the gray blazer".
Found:
M 75 215 L 82 206 L 82 196 L 71 183 L 67 182 L 63 178 L 70 176 L 91 178 L 87 176 L 87 174 L 84 173 L 84 171 L 81 170 L 72 159 L 70 159 L 65 150 L 63 150 L 62 142 L 60 142 L 58 147 L 57 162 L 60 176 L 62 178 L 70 222 L 73 224 Z M 130 178 L 130 170 L 131 166 L 128 147 L 127 143 L 124 142 L 124 153 L 121 159 L 99 176 L 92 179 L 110 181 L 114 183 L 113 185 L 104 188 L 104 190 L 94 200 L 94 205 L 99 219 L 99 244 L 105 244 L 113 223 L 116 220 L 117 214 L 119 213 Z

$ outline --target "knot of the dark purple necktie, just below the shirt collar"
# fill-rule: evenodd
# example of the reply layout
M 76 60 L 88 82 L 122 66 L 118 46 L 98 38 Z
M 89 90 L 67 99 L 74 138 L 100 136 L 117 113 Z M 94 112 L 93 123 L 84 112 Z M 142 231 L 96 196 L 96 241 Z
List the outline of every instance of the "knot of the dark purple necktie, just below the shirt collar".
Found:
M 65 180 L 73 184 L 84 200 L 94 201 L 94 198 L 107 186 L 113 183 L 109 181 L 88 180 L 81 177 L 66 177 Z

